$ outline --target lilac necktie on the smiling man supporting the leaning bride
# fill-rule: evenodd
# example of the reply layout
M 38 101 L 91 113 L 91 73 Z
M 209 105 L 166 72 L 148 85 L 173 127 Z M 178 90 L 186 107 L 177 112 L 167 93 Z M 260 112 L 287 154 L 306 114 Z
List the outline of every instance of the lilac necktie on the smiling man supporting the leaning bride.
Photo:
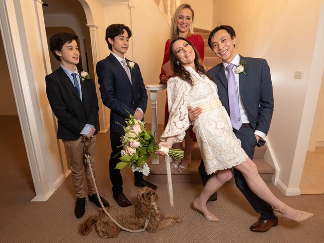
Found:
M 231 118 L 232 126 L 236 130 L 242 126 L 240 107 L 238 102 L 237 86 L 235 75 L 233 73 L 234 64 L 229 64 L 226 67 L 227 71 L 227 87 L 228 87 L 228 101 L 229 101 L 229 116 Z

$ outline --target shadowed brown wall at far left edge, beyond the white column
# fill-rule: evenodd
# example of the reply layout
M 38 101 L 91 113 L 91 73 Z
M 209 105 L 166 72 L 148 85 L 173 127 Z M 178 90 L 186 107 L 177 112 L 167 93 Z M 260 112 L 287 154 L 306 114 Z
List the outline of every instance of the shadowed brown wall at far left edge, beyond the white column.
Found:
M 0 74 L 1 74 L 1 88 L 0 88 L 0 116 L 16 116 L 17 108 L 14 101 L 8 65 L 3 49 L 3 42 L 0 36 Z

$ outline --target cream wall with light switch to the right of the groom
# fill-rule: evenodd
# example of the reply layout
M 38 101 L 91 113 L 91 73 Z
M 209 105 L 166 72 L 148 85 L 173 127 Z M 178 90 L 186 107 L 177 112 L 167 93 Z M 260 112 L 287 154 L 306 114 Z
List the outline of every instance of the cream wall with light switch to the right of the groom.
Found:
M 233 26 L 236 50 L 243 56 L 266 58 L 271 68 L 275 111 L 268 139 L 280 165 L 279 180 L 287 188 L 292 182 L 322 2 L 232 0 L 229 5 L 226 0 L 214 1 L 213 25 L 220 21 Z M 295 70 L 304 71 L 302 80 L 293 78 Z M 298 188 L 299 179 L 297 175 L 292 187 Z

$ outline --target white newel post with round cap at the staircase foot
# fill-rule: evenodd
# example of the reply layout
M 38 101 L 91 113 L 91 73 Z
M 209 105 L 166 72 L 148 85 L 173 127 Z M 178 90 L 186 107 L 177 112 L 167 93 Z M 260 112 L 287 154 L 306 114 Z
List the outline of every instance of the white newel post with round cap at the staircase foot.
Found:
M 164 90 L 166 88 L 165 84 L 148 84 L 146 89 L 150 91 L 151 105 L 152 105 L 152 127 L 151 133 L 154 135 L 155 140 L 158 141 L 159 128 L 158 128 L 158 114 L 157 114 L 157 104 L 158 104 L 158 91 Z M 152 164 L 159 164 L 159 158 L 152 157 Z

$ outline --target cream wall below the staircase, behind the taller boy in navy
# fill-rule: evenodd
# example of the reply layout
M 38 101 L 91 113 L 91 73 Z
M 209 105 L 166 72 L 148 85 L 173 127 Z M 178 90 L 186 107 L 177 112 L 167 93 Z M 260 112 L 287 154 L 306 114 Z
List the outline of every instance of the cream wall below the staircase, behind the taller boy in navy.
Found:
M 121 14 L 123 13 L 123 14 Z M 105 26 L 123 23 L 132 30 L 130 48 L 126 57 L 139 64 L 145 84 L 159 84 L 159 75 L 163 60 L 164 44 L 169 34 L 169 25 L 153 0 L 136 1 L 133 6 L 106 5 Z M 103 40 L 104 35 L 101 37 Z M 102 58 L 110 51 L 107 43 L 100 46 Z M 148 106 L 145 121 L 151 123 L 151 101 L 148 91 Z M 165 91 L 158 95 L 159 123 L 164 123 Z

